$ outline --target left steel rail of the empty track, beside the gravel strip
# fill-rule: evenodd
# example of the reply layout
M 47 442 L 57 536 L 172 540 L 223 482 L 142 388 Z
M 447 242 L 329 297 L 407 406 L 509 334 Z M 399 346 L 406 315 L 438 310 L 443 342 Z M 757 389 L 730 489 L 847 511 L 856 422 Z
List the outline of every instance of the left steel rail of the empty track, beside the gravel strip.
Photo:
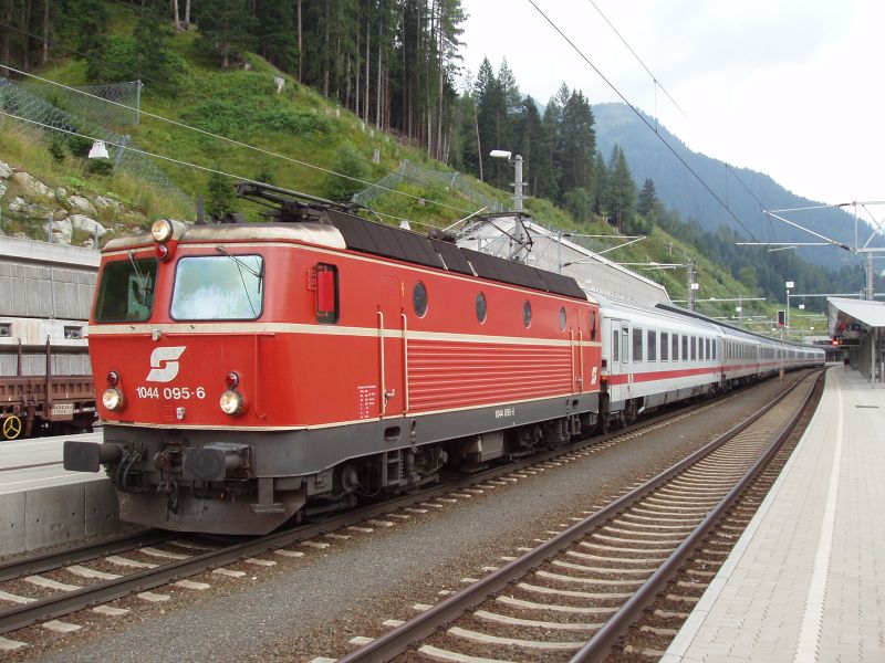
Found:
M 587 532 L 602 525 L 627 506 L 638 502 L 649 493 L 654 492 L 662 484 L 666 483 L 687 467 L 694 465 L 697 461 L 709 455 L 712 451 L 719 449 L 729 440 L 733 439 L 750 425 L 756 423 L 760 418 L 762 418 L 772 408 L 787 398 L 787 396 L 789 396 L 801 382 L 802 380 L 796 380 L 760 410 L 749 415 L 740 423 L 733 425 L 716 440 L 712 440 L 675 465 L 660 472 L 642 486 L 638 486 L 629 493 L 618 497 L 604 508 L 589 516 L 586 519 L 575 523 L 562 533 L 548 539 L 543 544 L 540 544 L 531 551 L 528 551 L 517 559 L 508 562 L 498 571 L 477 580 L 469 587 L 455 594 L 451 594 L 439 603 L 436 603 L 431 608 L 425 610 L 420 614 L 409 619 L 398 627 L 395 627 L 383 635 L 379 635 L 372 642 L 339 659 L 339 663 L 385 663 L 393 660 L 395 656 L 405 652 L 410 645 L 428 638 L 439 628 L 462 617 L 468 610 L 476 608 L 488 600 L 491 596 L 499 593 L 511 582 L 524 577 L 532 569 L 538 568 L 541 564 L 555 557 L 576 540 L 583 538 Z

